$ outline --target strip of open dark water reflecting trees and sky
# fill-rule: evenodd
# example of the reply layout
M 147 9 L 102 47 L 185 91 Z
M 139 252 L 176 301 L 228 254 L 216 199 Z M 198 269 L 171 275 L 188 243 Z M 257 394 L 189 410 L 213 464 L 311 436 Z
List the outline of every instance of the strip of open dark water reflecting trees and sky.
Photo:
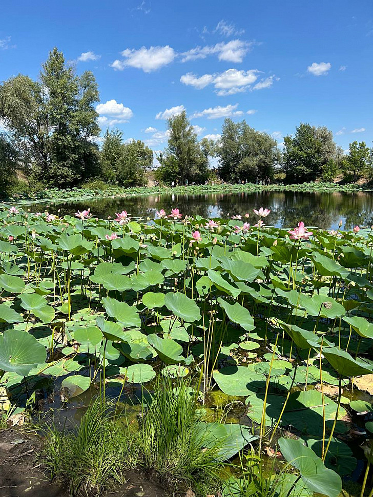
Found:
M 43 212 L 46 203 L 31 204 L 33 212 Z M 338 227 L 342 220 L 345 229 L 356 224 L 373 224 L 373 193 L 304 193 L 304 192 L 263 192 L 263 193 L 211 193 L 204 195 L 148 195 L 140 197 L 118 197 L 86 199 L 79 202 L 51 203 L 50 213 L 73 214 L 78 209 L 91 207 L 94 215 L 106 219 L 115 212 L 126 210 L 133 217 L 155 217 L 156 211 L 167 213 L 179 208 L 183 215 L 200 215 L 204 218 L 231 217 L 250 214 L 248 221 L 255 224 L 257 217 L 253 209 L 266 207 L 271 214 L 265 221 L 276 227 L 293 227 L 299 221 L 308 226 L 329 229 Z

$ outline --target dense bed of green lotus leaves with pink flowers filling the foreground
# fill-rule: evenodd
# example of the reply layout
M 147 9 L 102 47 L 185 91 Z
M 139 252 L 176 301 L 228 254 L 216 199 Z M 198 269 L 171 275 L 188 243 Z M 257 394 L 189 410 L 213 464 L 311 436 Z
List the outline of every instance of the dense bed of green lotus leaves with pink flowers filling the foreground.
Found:
M 98 396 L 136 413 L 157 378 L 190 378 L 201 450 L 273 457 L 273 495 L 353 479 L 371 497 L 373 230 L 94 214 L 0 212 L 2 425 Z M 242 481 L 223 495 L 252 495 Z

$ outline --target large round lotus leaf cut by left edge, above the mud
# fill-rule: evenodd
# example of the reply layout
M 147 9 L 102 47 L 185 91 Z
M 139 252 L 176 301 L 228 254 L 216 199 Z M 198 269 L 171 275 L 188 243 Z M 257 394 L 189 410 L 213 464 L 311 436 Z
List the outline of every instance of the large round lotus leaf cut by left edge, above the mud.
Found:
M 35 337 L 17 329 L 6 329 L 0 335 L 0 369 L 27 376 L 32 368 L 43 364 L 47 353 Z

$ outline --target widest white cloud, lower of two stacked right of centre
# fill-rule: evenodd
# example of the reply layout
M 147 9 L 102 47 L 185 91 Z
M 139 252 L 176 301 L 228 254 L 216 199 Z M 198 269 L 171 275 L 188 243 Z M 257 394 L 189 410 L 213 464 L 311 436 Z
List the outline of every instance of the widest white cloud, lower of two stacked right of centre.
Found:
M 254 87 L 252 86 L 258 79 L 258 69 L 250 69 L 248 71 L 238 69 L 228 69 L 222 73 L 204 74 L 197 76 L 193 73 L 187 73 L 181 76 L 180 81 L 184 85 L 190 85 L 194 88 L 201 90 L 206 86 L 213 84 L 215 92 L 219 96 L 234 95 L 235 93 L 242 93 L 247 90 L 262 88 L 270 88 L 274 80 L 278 80 L 276 76 L 270 76 L 262 79 Z

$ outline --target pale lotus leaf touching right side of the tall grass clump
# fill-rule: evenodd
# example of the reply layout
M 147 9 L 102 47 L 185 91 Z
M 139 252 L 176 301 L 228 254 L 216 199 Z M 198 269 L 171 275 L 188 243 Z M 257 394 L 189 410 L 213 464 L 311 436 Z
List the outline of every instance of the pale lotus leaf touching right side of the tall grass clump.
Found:
M 203 423 L 196 427 L 203 448 L 218 448 L 217 458 L 226 461 L 242 450 L 246 445 L 257 440 L 252 434 L 252 427 L 240 424 Z

